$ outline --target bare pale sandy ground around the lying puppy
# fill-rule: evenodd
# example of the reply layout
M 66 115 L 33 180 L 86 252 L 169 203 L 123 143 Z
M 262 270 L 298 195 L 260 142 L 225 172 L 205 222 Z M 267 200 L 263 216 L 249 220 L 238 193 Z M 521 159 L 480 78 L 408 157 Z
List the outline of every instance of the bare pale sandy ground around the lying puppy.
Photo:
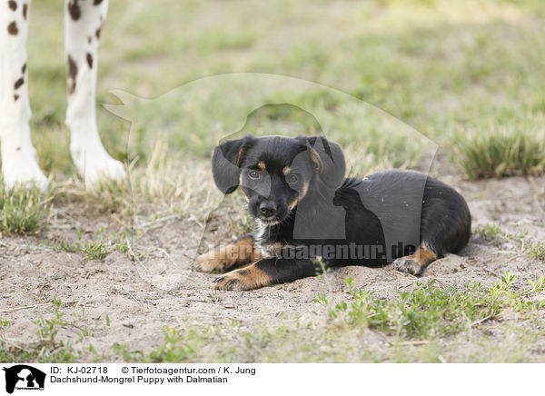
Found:
M 443 175 L 441 179 L 466 197 L 473 229 L 500 223 L 503 230 L 528 232 L 534 239 L 545 240 L 545 177 L 467 182 L 456 175 Z M 40 235 L 1 240 L 0 317 L 11 325 L 0 331 L 0 336 L 9 343 L 25 345 L 37 339 L 32 321 L 40 314 L 52 317 L 51 305 L 39 304 L 54 297 L 63 302 L 61 311 L 66 317 L 74 318 L 70 316 L 74 314 L 78 326 L 89 329 L 85 342 L 107 353 L 114 342 L 127 343 L 132 350 L 150 351 L 163 343 L 166 325 L 176 327 L 187 319 L 218 325 L 236 319 L 251 326 L 279 312 L 323 318 L 323 308 L 312 299 L 324 291 L 333 298 L 346 297 L 344 279 L 348 276 L 356 286 L 383 297 L 394 296 L 395 285 L 410 287 L 418 281 L 389 267 L 350 266 L 252 292 L 213 291 L 214 275 L 191 270 L 203 230 L 203 223 L 196 219 L 155 224 L 133 241 L 133 251 L 143 253 L 137 261 L 123 252 L 112 252 L 97 261 L 45 245 L 47 240 L 75 241 L 77 230 L 95 231 L 101 226 L 115 229 L 111 216 L 90 203 L 72 203 L 67 211 L 70 213 L 64 219 L 57 216 L 56 223 Z M 205 238 L 219 242 L 232 236 L 219 227 Z M 521 282 L 527 283 L 524 279 L 545 274 L 545 263 L 521 252 L 519 241 L 487 242 L 473 235 L 466 249 L 433 262 L 422 279 L 433 277 L 451 285 L 475 281 L 490 284 L 506 271 L 519 274 Z M 109 326 L 105 324 L 106 315 Z M 74 328 L 57 337 L 73 342 L 78 339 Z

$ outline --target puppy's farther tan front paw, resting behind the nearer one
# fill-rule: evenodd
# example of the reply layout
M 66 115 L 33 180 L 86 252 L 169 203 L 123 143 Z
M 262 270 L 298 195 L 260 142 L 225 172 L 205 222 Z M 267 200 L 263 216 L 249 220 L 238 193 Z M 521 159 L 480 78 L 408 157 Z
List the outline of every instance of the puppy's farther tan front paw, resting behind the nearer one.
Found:
M 242 265 L 259 260 L 261 257 L 252 238 L 223 246 L 219 249 L 204 253 L 197 257 L 193 268 L 202 272 L 225 272 L 234 265 Z

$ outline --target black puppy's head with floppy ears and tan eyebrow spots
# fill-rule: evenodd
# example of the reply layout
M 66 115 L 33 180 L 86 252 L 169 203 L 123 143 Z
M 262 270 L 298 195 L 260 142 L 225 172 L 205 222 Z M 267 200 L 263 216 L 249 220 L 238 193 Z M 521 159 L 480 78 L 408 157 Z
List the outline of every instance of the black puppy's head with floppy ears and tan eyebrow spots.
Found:
M 309 192 L 334 191 L 345 168 L 341 147 L 321 136 L 247 135 L 212 156 L 217 187 L 233 193 L 240 185 L 250 214 L 265 224 L 282 223 Z

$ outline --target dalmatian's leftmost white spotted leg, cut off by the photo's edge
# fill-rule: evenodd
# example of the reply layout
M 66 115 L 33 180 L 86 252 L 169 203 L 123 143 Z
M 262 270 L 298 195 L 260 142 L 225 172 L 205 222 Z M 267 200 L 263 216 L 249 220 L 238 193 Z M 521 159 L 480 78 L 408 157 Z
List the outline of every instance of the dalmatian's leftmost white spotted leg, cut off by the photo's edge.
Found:
M 46 179 L 30 140 L 30 104 L 26 73 L 26 34 L 30 0 L 0 3 L 0 140 L 7 186 Z

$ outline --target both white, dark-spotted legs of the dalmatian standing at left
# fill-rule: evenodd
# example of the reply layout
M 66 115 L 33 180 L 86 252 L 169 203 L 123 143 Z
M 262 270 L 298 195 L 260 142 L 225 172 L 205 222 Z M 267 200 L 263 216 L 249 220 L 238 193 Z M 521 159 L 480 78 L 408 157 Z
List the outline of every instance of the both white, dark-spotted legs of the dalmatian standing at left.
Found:
M 0 143 L 7 186 L 47 180 L 31 142 L 26 66 L 30 0 L 0 0 Z M 66 125 L 70 153 L 85 185 L 104 177 L 121 179 L 124 165 L 104 149 L 96 125 L 96 69 L 108 0 L 65 0 L 64 49 L 67 72 Z

